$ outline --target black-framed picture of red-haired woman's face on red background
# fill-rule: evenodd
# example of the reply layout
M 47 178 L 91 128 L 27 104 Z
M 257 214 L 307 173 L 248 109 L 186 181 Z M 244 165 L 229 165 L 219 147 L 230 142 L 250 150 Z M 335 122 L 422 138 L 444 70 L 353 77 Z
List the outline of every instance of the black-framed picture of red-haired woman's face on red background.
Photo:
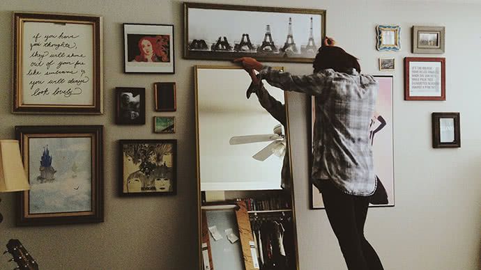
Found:
M 124 72 L 174 74 L 174 26 L 123 24 Z

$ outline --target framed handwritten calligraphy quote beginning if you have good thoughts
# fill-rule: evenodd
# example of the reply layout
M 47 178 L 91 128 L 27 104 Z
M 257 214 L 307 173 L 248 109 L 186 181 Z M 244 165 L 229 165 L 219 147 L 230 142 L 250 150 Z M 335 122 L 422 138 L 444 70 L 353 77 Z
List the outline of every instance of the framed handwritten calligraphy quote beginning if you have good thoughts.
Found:
M 13 113 L 102 114 L 102 17 L 13 13 Z

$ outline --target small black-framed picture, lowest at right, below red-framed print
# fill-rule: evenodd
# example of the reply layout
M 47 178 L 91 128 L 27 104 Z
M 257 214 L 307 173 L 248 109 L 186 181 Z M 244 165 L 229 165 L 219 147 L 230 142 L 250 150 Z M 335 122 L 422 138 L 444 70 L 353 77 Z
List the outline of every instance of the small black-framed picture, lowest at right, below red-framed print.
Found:
M 459 113 L 432 113 L 433 148 L 460 148 Z

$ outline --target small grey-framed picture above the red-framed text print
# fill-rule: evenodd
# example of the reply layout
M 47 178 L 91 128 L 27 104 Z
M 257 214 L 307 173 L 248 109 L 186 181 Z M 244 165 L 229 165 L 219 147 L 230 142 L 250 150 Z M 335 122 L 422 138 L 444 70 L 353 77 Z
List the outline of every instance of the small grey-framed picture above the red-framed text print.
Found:
M 413 53 L 443 54 L 444 26 L 413 26 Z

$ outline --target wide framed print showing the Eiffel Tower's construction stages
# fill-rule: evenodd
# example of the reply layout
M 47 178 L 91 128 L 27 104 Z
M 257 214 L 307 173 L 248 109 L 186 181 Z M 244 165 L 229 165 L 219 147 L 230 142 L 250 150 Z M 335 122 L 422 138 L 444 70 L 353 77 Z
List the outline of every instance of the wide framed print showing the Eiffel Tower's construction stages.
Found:
M 188 59 L 312 63 L 325 35 L 326 10 L 184 3 Z

